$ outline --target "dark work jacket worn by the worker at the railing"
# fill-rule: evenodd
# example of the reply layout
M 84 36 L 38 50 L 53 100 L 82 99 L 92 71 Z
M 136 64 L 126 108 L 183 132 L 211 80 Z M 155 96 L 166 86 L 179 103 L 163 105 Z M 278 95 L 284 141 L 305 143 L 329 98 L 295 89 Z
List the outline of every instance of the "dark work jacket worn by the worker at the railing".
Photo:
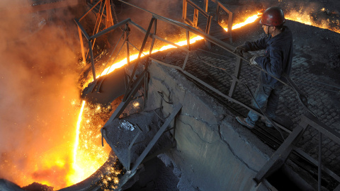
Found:
M 261 37 L 255 42 L 244 42 L 243 47 L 246 51 L 266 50 L 266 55 L 256 57 L 255 62 L 268 72 L 261 71 L 260 80 L 264 86 L 280 88 L 283 83 L 274 79 L 272 76 L 283 79 L 283 74 L 289 76 L 293 60 L 293 34 L 287 26 L 283 26 L 282 32 L 275 37 Z

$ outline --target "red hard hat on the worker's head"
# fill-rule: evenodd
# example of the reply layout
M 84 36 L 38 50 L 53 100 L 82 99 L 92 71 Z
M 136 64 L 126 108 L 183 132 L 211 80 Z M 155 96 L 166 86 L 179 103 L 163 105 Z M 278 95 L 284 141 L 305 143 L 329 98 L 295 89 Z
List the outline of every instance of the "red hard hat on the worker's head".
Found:
M 263 12 L 261 25 L 278 26 L 285 23 L 285 15 L 280 7 L 270 7 Z

